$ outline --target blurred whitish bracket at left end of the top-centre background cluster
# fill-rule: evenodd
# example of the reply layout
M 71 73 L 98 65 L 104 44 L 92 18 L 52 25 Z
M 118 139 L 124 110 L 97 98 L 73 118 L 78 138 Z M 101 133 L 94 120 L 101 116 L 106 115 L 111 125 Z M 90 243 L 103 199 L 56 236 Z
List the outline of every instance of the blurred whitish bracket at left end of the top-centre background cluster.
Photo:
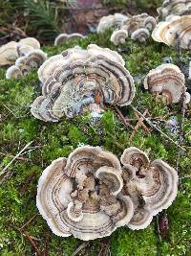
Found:
M 96 28 L 96 32 L 99 34 L 99 33 L 105 32 L 111 27 L 121 26 L 123 21 L 127 19 L 128 19 L 128 16 L 121 13 L 115 13 L 114 15 L 103 16 L 99 20 L 98 26 Z

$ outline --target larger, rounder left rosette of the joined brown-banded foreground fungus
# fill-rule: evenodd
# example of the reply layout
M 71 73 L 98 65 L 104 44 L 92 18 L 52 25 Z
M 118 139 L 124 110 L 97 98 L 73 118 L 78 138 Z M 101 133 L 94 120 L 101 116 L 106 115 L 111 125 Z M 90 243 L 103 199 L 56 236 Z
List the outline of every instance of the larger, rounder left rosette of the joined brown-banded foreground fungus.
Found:
M 57 236 L 88 241 L 109 236 L 133 217 L 123 196 L 120 163 L 99 147 L 81 147 L 58 158 L 38 182 L 37 207 Z

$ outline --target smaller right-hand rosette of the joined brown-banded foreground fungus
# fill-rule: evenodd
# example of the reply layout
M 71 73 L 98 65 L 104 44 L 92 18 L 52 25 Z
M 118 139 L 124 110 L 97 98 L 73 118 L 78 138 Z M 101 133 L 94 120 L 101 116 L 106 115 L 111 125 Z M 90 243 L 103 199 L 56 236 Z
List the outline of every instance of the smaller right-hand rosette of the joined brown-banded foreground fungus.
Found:
M 132 198 L 135 213 L 127 224 L 131 229 L 147 227 L 162 209 L 167 209 L 178 193 L 179 176 L 160 159 L 150 163 L 145 152 L 131 147 L 121 156 L 123 195 Z

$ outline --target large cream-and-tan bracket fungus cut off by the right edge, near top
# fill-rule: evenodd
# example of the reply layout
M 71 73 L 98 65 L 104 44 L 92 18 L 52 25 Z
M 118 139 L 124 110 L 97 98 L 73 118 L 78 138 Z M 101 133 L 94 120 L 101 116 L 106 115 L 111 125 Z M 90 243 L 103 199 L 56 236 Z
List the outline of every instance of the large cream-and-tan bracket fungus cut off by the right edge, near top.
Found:
M 182 49 L 191 50 L 191 15 L 167 16 L 156 26 L 152 37 L 168 46 L 180 45 Z

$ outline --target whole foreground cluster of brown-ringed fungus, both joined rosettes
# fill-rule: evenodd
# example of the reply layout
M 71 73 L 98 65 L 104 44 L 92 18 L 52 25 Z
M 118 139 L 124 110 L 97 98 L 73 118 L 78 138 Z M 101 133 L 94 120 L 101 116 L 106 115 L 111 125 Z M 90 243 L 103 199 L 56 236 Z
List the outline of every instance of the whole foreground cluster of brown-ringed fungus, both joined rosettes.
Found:
M 57 236 L 88 241 L 119 226 L 147 227 L 177 196 L 177 172 L 137 148 L 117 156 L 83 146 L 45 169 L 38 182 L 37 207 Z

